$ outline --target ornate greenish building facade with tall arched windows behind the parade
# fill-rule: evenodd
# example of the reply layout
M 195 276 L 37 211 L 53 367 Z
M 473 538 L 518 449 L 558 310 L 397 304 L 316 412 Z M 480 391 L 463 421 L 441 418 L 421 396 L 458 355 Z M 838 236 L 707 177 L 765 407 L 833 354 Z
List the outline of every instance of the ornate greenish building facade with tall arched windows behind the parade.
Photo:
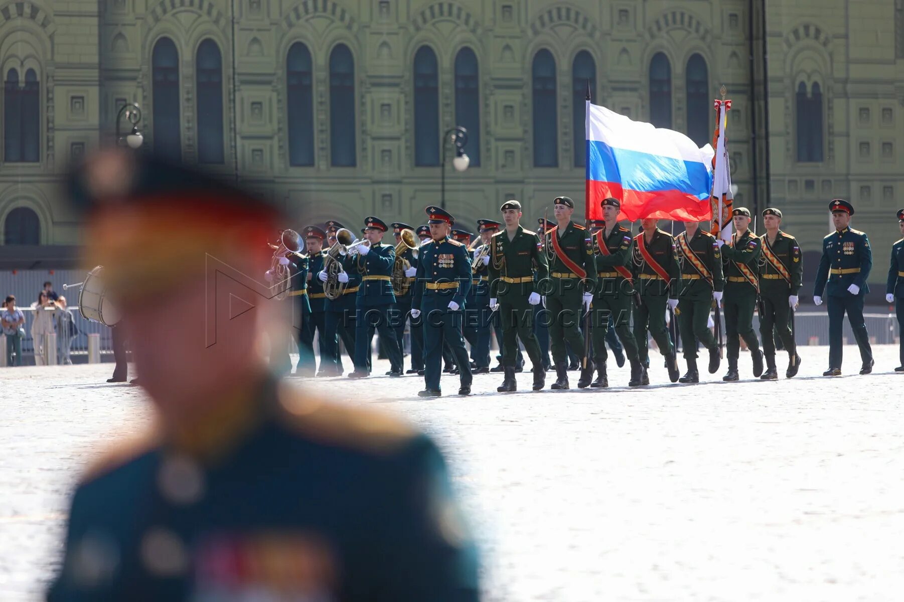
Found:
M 127 102 L 146 149 L 238 176 L 295 227 L 420 223 L 466 124 L 447 209 L 469 228 L 516 198 L 535 223 L 583 197 L 588 80 L 701 144 L 724 84 L 736 204 L 780 207 L 806 249 L 833 197 L 882 253 L 904 205 L 904 0 L 9 2 L 0 66 L 5 245 L 79 242 L 61 175 Z

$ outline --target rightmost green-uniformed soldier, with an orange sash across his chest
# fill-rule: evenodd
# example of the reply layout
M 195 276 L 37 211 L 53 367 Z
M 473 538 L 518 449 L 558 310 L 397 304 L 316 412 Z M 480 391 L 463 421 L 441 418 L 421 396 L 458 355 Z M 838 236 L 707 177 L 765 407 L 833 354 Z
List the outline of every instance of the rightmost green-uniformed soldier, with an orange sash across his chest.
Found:
M 763 254 L 759 259 L 759 334 L 763 337 L 766 372 L 759 378 L 764 381 L 778 378 L 773 332 L 778 334 L 788 353 L 785 377 L 790 379 L 800 370 L 800 355 L 791 325 L 804 276 L 804 262 L 797 240 L 780 230 L 781 224 L 781 211 L 772 207 L 763 211 L 766 234 L 760 237 Z

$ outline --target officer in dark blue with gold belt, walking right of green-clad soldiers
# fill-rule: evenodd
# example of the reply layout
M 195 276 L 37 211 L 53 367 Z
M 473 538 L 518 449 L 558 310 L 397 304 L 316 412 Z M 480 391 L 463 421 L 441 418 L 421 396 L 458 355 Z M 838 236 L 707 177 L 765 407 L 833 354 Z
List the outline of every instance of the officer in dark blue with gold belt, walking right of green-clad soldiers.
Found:
M 829 369 L 823 376 L 842 373 L 842 325 L 847 312 L 854 339 L 860 347 L 860 373 L 872 372 L 870 335 L 863 321 L 863 296 L 870 292 L 867 280 L 872 269 L 870 240 L 860 230 L 850 227 L 853 205 L 843 199 L 829 203 L 835 231 L 823 239 L 823 257 L 816 270 L 813 302 L 823 305 L 828 295 L 829 308 Z

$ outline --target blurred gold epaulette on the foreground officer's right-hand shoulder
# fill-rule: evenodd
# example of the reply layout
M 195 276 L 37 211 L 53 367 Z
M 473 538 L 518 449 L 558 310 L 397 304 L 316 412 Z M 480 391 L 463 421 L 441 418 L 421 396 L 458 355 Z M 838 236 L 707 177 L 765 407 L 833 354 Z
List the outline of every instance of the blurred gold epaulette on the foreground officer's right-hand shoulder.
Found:
M 419 435 L 408 423 L 373 409 L 325 401 L 283 385 L 278 397 L 287 427 L 312 441 L 365 453 L 389 454 Z

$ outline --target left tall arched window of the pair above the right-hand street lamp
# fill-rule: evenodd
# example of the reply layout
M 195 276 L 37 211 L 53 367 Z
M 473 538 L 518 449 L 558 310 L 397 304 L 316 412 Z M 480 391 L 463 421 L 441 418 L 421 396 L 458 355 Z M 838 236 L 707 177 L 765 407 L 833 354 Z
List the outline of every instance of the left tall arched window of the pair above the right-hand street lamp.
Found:
M 439 165 L 439 75 L 429 46 L 414 55 L 414 165 Z

